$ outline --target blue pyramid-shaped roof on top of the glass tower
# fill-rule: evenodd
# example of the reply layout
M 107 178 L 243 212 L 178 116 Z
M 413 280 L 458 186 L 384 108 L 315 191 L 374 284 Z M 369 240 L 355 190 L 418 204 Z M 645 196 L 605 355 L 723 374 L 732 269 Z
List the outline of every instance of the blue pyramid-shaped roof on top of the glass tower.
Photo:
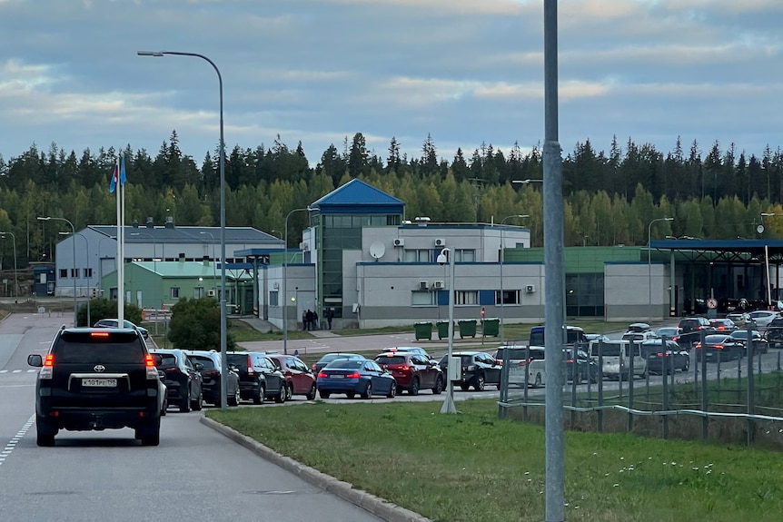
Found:
M 372 212 L 401 214 L 404 207 L 405 203 L 401 200 L 355 178 L 310 205 L 311 210 L 322 214 Z

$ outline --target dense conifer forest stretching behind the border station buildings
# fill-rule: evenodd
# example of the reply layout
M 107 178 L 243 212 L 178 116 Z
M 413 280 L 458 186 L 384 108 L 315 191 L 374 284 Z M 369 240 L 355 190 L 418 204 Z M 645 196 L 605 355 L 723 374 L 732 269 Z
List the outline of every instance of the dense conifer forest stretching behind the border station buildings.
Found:
M 282 231 L 290 210 L 306 207 L 352 178 L 360 178 L 406 204 L 406 219 L 428 216 L 431 222 L 501 222 L 530 229 L 532 245 L 541 246 L 541 184 L 515 183 L 543 176 L 540 147 L 523 153 L 491 144 L 451 161 L 439 159 L 427 136 L 421 156 L 401 154 L 391 139 L 386 157 L 368 150 L 362 133 L 331 145 L 320 161 L 308 163 L 302 143 L 290 148 L 280 137 L 267 147 L 226 151 L 226 225 Z M 116 202 L 109 180 L 119 153 L 125 157 L 125 217 L 144 223 L 219 226 L 220 172 L 218 150 L 200 165 L 180 150 L 174 131 L 151 157 L 145 150 L 89 149 L 77 155 L 55 143 L 47 151 L 34 144 L 18 157 L 0 156 L 0 231 L 13 232 L 19 267 L 28 261 L 51 260 L 58 232 L 69 229 L 37 216 L 62 217 L 78 231 L 91 224 L 114 224 Z M 758 155 L 760 154 L 760 155 Z M 565 241 L 567 246 L 640 245 L 648 240 L 652 220 L 659 222 L 652 238 L 758 239 L 783 237 L 783 153 L 780 148 L 746 153 L 733 144 L 703 148 L 683 145 L 663 153 L 649 143 L 615 138 L 609 152 L 589 140 L 563 151 Z M 762 212 L 780 214 L 762 216 Z M 527 218 L 510 218 L 526 214 Z M 758 224 L 766 230 L 756 231 Z M 289 243 L 307 225 L 304 212 L 289 220 Z M 0 241 L 2 268 L 14 264 L 10 235 Z M 290 246 L 289 245 L 289 246 Z

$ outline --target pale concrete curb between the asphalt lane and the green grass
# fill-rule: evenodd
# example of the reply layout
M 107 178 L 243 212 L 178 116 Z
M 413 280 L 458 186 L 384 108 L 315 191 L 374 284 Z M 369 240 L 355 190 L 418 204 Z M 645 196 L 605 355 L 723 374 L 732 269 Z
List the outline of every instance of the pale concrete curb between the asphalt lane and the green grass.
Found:
M 292 472 L 294 475 L 306 480 L 313 486 L 322 488 L 324 491 L 328 491 L 333 495 L 337 495 L 355 506 L 362 507 L 362 509 L 369 511 L 376 517 L 380 517 L 387 522 L 432 522 L 429 518 L 422 517 L 410 509 L 387 502 L 381 497 L 375 497 L 361 489 L 354 489 L 348 482 L 343 482 L 331 475 L 326 475 L 315 468 L 304 466 L 301 462 L 297 462 L 290 457 L 285 457 L 272 448 L 267 448 L 257 440 L 247 437 L 239 431 L 229 428 L 220 422 L 213 419 L 207 419 L 206 417 L 202 417 L 199 420 L 202 424 L 213 428 L 215 431 L 222 433 L 225 437 L 250 449 L 259 457 L 265 458 L 286 471 Z

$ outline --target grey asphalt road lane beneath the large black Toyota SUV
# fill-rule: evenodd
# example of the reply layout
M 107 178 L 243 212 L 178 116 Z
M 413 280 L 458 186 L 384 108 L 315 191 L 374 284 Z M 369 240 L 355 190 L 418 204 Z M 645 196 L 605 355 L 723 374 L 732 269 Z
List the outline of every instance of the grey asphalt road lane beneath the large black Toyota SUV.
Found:
M 159 447 L 130 429 L 61 431 L 35 445 L 36 369 L 62 318 L 0 323 L 0 517 L 7 521 L 380 520 L 256 456 L 199 419 L 170 409 Z

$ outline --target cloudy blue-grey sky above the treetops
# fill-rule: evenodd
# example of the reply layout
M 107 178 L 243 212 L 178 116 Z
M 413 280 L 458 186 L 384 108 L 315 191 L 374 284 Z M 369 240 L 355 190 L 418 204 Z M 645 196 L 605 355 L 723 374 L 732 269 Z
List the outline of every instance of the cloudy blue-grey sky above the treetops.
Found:
M 783 147 L 783 1 L 561 0 L 560 143 Z M 0 0 L 0 155 L 543 136 L 543 0 Z

